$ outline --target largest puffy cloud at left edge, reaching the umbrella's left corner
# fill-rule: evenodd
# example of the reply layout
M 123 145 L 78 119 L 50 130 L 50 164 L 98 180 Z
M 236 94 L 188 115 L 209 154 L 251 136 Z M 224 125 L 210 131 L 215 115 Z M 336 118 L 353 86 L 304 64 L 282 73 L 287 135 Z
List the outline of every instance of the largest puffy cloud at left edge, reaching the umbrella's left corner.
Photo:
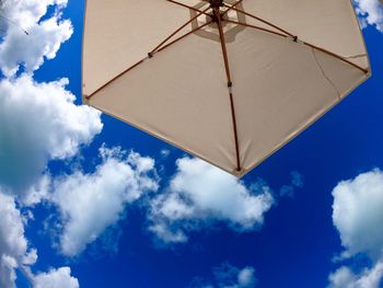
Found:
M 76 97 L 66 90 L 67 84 L 67 79 L 37 83 L 26 74 L 0 81 L 3 186 L 20 193 L 44 182 L 42 174 L 48 161 L 73 157 L 102 130 L 100 112 L 74 105 Z

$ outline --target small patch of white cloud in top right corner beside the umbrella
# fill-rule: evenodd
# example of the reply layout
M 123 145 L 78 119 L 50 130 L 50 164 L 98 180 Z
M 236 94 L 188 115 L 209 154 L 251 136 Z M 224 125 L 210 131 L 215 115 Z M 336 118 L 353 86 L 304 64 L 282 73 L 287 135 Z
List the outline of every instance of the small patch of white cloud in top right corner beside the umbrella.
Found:
M 383 32 L 383 4 L 381 0 L 355 0 L 362 26 L 374 25 Z

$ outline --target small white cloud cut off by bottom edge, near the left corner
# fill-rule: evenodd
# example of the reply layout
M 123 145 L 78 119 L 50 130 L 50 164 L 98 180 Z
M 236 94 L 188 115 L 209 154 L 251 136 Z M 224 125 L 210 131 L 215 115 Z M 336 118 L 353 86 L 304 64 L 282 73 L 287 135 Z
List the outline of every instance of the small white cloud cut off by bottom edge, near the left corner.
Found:
M 71 275 L 69 267 L 51 269 L 33 277 L 34 288 L 78 288 L 79 280 Z

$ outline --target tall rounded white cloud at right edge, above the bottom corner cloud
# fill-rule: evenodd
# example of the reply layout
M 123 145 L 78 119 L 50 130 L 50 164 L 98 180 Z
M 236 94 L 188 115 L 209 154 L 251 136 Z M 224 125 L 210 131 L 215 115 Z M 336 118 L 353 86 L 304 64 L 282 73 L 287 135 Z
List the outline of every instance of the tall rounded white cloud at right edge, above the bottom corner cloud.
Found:
M 340 182 L 333 191 L 333 221 L 340 233 L 346 256 L 383 252 L 383 172 L 374 170 Z

